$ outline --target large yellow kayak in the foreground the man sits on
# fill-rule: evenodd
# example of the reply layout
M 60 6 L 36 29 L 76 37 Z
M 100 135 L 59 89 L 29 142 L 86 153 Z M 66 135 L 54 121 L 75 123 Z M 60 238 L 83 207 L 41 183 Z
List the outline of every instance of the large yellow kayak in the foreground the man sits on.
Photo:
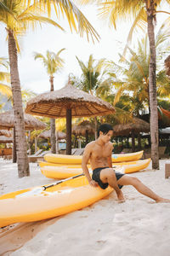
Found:
M 31 222 L 88 207 L 113 189 L 94 188 L 86 177 L 71 178 L 54 187 L 24 189 L 0 196 L 0 227 Z

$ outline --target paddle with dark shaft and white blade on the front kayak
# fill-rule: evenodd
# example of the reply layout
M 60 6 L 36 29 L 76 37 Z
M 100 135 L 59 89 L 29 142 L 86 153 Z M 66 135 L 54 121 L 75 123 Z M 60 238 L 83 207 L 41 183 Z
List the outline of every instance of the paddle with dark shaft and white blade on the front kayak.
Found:
M 42 186 L 42 187 L 37 188 L 37 189 L 32 189 L 31 191 L 27 191 L 25 193 L 16 195 L 16 197 L 22 197 L 22 196 L 26 196 L 26 195 L 36 195 L 36 194 L 41 193 L 42 191 L 44 191 L 44 190 L 46 190 L 48 188 L 54 187 L 56 185 L 59 185 L 60 183 L 64 183 L 65 181 L 71 180 L 71 179 L 76 178 L 76 177 L 81 177 L 81 176 L 84 176 L 84 174 L 81 173 L 81 174 L 78 174 L 78 175 L 73 176 L 73 177 L 67 177 L 65 179 L 61 179 L 61 180 L 59 180 L 56 183 L 52 183 L 52 184 L 49 184 L 47 186 Z

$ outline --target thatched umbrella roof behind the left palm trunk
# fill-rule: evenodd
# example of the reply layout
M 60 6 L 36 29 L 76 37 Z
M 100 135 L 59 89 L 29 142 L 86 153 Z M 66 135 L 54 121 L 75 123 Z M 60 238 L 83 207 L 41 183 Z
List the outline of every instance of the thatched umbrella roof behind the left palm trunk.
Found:
M 42 121 L 36 119 L 31 114 L 24 113 L 26 130 L 45 129 L 46 125 Z M 0 113 L 0 129 L 14 128 L 14 110 Z

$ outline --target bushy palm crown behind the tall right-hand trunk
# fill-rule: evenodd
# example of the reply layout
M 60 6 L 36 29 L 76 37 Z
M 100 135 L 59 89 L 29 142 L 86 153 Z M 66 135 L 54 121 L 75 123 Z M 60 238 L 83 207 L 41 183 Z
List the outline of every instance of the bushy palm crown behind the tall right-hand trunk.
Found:
M 170 96 L 170 83 L 166 75 L 166 70 L 162 68 L 161 60 L 163 56 L 169 52 L 168 38 L 169 32 L 160 31 L 156 35 L 156 84 L 157 96 L 161 99 Z M 128 60 L 124 58 L 123 66 L 116 65 L 113 61 L 110 62 L 112 70 L 116 70 L 117 75 L 113 79 L 118 89 L 116 92 L 115 102 L 119 101 L 120 96 L 124 91 L 130 92 L 132 95 L 131 102 L 133 103 L 133 114 L 138 116 L 139 110 L 149 108 L 150 111 L 150 97 L 149 97 L 149 63 L 150 51 L 148 49 L 147 37 L 139 41 L 138 49 L 135 51 L 129 49 L 130 57 Z M 167 43 L 167 45 L 166 45 Z M 122 79 L 120 79 L 122 77 Z

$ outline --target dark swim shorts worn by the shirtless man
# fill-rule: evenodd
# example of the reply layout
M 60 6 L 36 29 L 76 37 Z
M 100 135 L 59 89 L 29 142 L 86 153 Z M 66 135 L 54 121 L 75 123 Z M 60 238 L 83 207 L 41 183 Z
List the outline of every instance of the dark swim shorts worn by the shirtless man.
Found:
M 109 184 L 108 183 L 102 183 L 102 181 L 99 178 L 100 172 L 101 170 L 105 169 L 105 168 L 110 168 L 110 167 L 99 167 L 99 168 L 95 168 L 92 174 L 92 178 L 94 179 L 94 181 L 96 181 L 97 183 L 99 183 L 99 187 L 101 189 L 106 189 Z M 114 170 L 114 169 L 113 169 Z M 116 174 L 116 180 L 118 180 L 119 178 L 121 178 L 124 174 L 121 172 L 115 172 Z M 118 185 L 119 189 L 122 189 L 122 185 Z

